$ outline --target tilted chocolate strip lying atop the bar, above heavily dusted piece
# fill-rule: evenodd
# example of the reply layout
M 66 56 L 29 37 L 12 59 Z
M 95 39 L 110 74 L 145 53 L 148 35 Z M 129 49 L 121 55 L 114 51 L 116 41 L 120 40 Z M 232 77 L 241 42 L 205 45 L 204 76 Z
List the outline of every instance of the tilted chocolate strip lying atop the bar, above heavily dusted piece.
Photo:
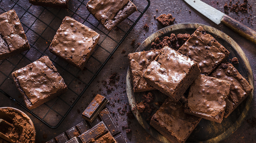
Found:
M 91 140 L 96 140 L 101 135 L 104 135 L 107 132 L 108 132 L 108 129 L 106 125 L 101 121 L 96 126 L 86 131 L 82 135 L 79 135 L 78 137 L 83 143 L 89 143 L 91 142 Z

